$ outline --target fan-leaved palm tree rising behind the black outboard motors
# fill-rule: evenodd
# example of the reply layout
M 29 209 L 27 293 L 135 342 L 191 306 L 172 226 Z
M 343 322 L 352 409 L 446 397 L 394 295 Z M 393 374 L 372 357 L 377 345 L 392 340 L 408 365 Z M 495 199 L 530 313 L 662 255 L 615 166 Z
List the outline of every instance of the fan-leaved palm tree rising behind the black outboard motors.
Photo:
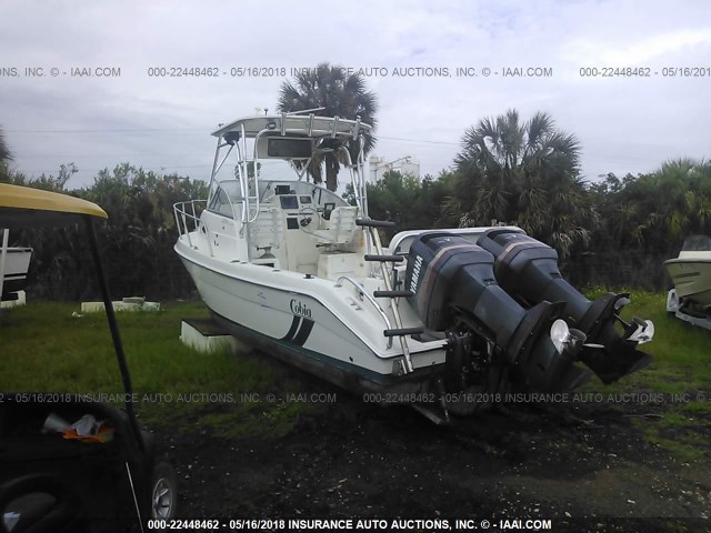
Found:
M 543 112 L 523 123 L 515 110 L 481 120 L 464 132 L 454 160 L 471 198 L 460 224 L 515 223 L 567 257 L 574 244 L 587 243 L 595 222 L 579 152 L 575 137 Z

